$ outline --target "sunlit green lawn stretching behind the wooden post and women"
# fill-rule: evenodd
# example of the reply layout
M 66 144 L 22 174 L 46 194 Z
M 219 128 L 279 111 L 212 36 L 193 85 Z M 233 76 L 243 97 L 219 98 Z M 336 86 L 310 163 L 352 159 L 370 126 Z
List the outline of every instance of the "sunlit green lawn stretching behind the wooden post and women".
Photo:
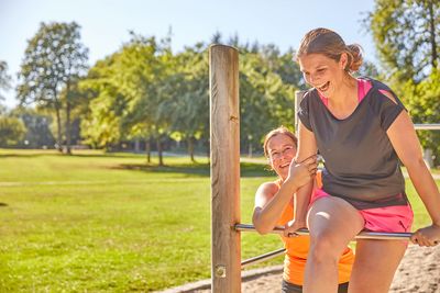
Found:
M 0 150 L 0 292 L 150 292 L 210 278 L 209 167 L 198 161 Z M 256 188 L 274 177 L 241 168 L 250 223 Z M 419 227 L 429 217 L 408 190 Z M 243 259 L 279 247 L 275 235 L 242 235 Z

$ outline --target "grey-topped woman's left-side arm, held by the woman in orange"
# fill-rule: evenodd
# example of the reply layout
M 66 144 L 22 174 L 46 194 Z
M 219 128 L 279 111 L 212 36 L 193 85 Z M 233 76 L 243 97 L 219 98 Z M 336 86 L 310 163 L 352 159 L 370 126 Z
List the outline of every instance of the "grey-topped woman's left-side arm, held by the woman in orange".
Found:
M 295 161 L 301 162 L 310 156 L 316 156 L 318 151 L 315 134 L 307 129 L 299 122 L 299 139 L 298 151 Z M 289 236 L 290 233 L 307 226 L 307 210 L 310 203 L 310 195 L 314 188 L 314 181 L 310 179 L 306 184 L 300 187 L 295 194 L 294 219 L 290 221 L 284 229 L 284 235 Z

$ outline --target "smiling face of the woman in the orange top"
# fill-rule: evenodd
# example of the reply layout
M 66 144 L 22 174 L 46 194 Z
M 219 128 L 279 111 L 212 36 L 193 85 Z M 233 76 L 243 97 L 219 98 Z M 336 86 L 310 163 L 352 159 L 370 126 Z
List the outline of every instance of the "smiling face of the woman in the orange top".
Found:
M 286 179 L 290 161 L 296 155 L 294 140 L 285 134 L 277 134 L 268 140 L 267 153 L 272 169 L 282 179 Z

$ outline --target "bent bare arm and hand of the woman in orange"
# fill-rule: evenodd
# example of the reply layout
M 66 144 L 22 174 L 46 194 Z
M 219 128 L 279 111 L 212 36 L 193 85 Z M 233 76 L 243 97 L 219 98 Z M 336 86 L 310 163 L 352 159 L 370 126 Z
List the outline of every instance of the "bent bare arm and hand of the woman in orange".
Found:
M 263 183 L 255 193 L 255 207 L 252 222 L 260 234 L 270 233 L 275 228 L 286 204 L 305 183 L 316 173 L 316 157 L 306 159 L 302 164 L 290 164 L 288 178 L 278 189 L 273 182 Z

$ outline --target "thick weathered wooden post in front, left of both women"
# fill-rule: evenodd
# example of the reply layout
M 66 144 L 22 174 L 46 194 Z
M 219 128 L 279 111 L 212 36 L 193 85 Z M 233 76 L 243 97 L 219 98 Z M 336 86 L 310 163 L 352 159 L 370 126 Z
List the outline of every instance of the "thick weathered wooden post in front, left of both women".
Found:
M 241 292 L 239 53 L 209 48 L 212 292 Z

